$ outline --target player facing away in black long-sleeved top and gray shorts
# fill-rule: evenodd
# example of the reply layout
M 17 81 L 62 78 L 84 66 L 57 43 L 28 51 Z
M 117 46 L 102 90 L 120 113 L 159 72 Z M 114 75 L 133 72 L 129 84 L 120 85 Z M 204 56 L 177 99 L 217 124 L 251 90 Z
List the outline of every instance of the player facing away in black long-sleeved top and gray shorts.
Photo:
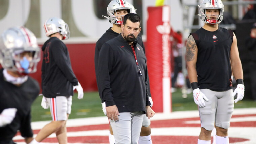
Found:
M 71 113 L 73 88 L 82 99 L 84 92 L 78 82 L 69 58 L 69 52 L 62 40 L 69 38 L 68 25 L 60 18 L 52 17 L 44 23 L 46 36 L 50 37 L 42 46 L 42 107 L 48 108 L 52 121 L 45 125 L 34 141 L 41 142 L 56 133 L 59 144 L 67 144 L 66 121 Z

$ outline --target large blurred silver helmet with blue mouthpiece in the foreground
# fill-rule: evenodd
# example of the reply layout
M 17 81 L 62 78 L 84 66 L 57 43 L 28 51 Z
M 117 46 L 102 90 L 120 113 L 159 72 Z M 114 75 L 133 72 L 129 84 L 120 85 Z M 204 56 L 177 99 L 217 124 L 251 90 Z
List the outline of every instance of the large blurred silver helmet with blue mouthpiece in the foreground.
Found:
M 22 56 L 28 52 L 32 59 Z M 0 63 L 4 69 L 21 74 L 36 72 L 40 61 L 40 48 L 35 35 L 25 27 L 12 27 L 0 37 Z

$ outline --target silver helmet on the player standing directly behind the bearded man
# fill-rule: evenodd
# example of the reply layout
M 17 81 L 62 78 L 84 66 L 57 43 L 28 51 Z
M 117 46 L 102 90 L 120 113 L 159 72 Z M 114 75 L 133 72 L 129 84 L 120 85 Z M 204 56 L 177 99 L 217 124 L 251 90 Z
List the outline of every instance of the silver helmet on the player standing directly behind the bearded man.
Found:
M 132 12 L 132 7 L 126 0 L 113 0 L 108 4 L 107 15 L 109 17 L 109 22 L 112 24 L 122 25 L 123 20 L 119 20 L 118 17 L 123 17 L 124 15 L 115 16 L 117 10 L 127 9 L 128 13 Z

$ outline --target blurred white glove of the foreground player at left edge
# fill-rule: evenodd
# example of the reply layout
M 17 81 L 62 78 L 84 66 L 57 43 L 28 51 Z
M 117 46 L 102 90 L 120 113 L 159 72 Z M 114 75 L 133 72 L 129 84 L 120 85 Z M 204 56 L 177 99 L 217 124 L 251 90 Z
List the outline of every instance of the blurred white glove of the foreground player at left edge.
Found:
M 7 108 L 0 114 L 0 127 L 10 124 L 16 115 L 16 108 Z

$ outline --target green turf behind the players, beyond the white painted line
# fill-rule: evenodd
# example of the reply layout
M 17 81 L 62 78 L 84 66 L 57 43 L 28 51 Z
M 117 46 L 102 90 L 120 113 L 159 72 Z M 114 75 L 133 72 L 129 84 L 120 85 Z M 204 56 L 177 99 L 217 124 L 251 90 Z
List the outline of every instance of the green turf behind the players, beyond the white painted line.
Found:
M 41 107 L 41 100 L 42 96 L 38 96 L 32 105 L 32 121 L 51 120 L 50 110 L 45 110 Z M 235 108 L 249 107 L 256 107 L 256 102 L 243 99 L 235 104 Z M 154 110 L 154 106 L 152 109 Z M 187 98 L 182 98 L 180 89 L 178 89 L 175 93 L 172 93 L 172 110 L 197 110 L 197 105 L 194 103 L 192 94 L 189 94 Z M 84 98 L 81 100 L 77 99 L 77 93 L 75 93 L 73 96 L 72 111 L 69 118 L 72 119 L 96 116 L 104 116 L 98 92 L 84 93 Z

